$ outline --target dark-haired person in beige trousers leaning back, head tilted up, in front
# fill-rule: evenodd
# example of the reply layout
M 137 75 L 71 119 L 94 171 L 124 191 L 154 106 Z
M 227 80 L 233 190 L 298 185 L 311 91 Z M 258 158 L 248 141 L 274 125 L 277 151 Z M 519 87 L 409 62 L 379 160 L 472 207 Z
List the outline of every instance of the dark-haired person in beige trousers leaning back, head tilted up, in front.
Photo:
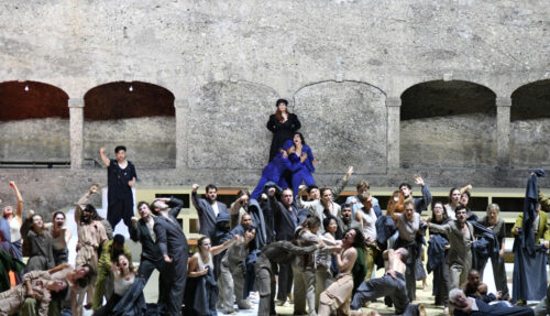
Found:
M 353 276 L 351 270 L 358 259 L 355 248 L 363 247 L 365 238 L 361 230 L 351 228 L 342 238 L 342 247 L 334 249 L 334 257 L 338 263 L 338 275 L 319 297 L 319 316 L 329 316 L 334 310 L 338 315 L 348 315 L 350 310 L 351 293 L 353 291 Z

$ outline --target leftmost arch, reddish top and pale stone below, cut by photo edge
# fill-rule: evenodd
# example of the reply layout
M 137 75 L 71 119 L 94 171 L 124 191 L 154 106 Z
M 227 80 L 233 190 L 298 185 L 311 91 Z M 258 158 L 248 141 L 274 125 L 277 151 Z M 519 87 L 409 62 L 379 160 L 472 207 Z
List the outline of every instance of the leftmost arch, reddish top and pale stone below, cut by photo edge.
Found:
M 0 83 L 0 165 L 68 166 L 68 95 L 38 81 Z

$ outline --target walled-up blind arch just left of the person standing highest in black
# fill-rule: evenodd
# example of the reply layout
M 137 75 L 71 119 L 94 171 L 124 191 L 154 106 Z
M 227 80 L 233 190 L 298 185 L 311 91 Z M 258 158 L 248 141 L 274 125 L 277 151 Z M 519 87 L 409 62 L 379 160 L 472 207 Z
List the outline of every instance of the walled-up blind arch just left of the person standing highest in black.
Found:
M 218 81 L 201 88 L 186 119 L 189 168 L 261 168 L 272 133 L 266 129 L 278 95 L 251 83 Z

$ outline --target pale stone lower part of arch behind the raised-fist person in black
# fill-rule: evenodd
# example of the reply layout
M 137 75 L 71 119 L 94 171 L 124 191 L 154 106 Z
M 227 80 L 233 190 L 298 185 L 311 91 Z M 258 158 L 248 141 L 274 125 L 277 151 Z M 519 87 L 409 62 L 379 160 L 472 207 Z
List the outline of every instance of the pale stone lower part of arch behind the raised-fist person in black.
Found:
M 100 165 L 99 149 L 114 159 L 114 148 L 125 145 L 127 156 L 136 168 L 176 166 L 176 121 L 173 117 L 153 117 L 112 121 L 85 121 L 84 159 Z

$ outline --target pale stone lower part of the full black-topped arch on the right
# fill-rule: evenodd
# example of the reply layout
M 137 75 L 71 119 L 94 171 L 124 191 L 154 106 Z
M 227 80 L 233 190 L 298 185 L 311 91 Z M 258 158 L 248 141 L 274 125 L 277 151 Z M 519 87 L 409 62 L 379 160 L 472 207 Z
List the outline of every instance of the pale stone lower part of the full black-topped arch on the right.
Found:
M 496 166 L 496 120 L 464 115 L 402 121 L 404 167 Z

